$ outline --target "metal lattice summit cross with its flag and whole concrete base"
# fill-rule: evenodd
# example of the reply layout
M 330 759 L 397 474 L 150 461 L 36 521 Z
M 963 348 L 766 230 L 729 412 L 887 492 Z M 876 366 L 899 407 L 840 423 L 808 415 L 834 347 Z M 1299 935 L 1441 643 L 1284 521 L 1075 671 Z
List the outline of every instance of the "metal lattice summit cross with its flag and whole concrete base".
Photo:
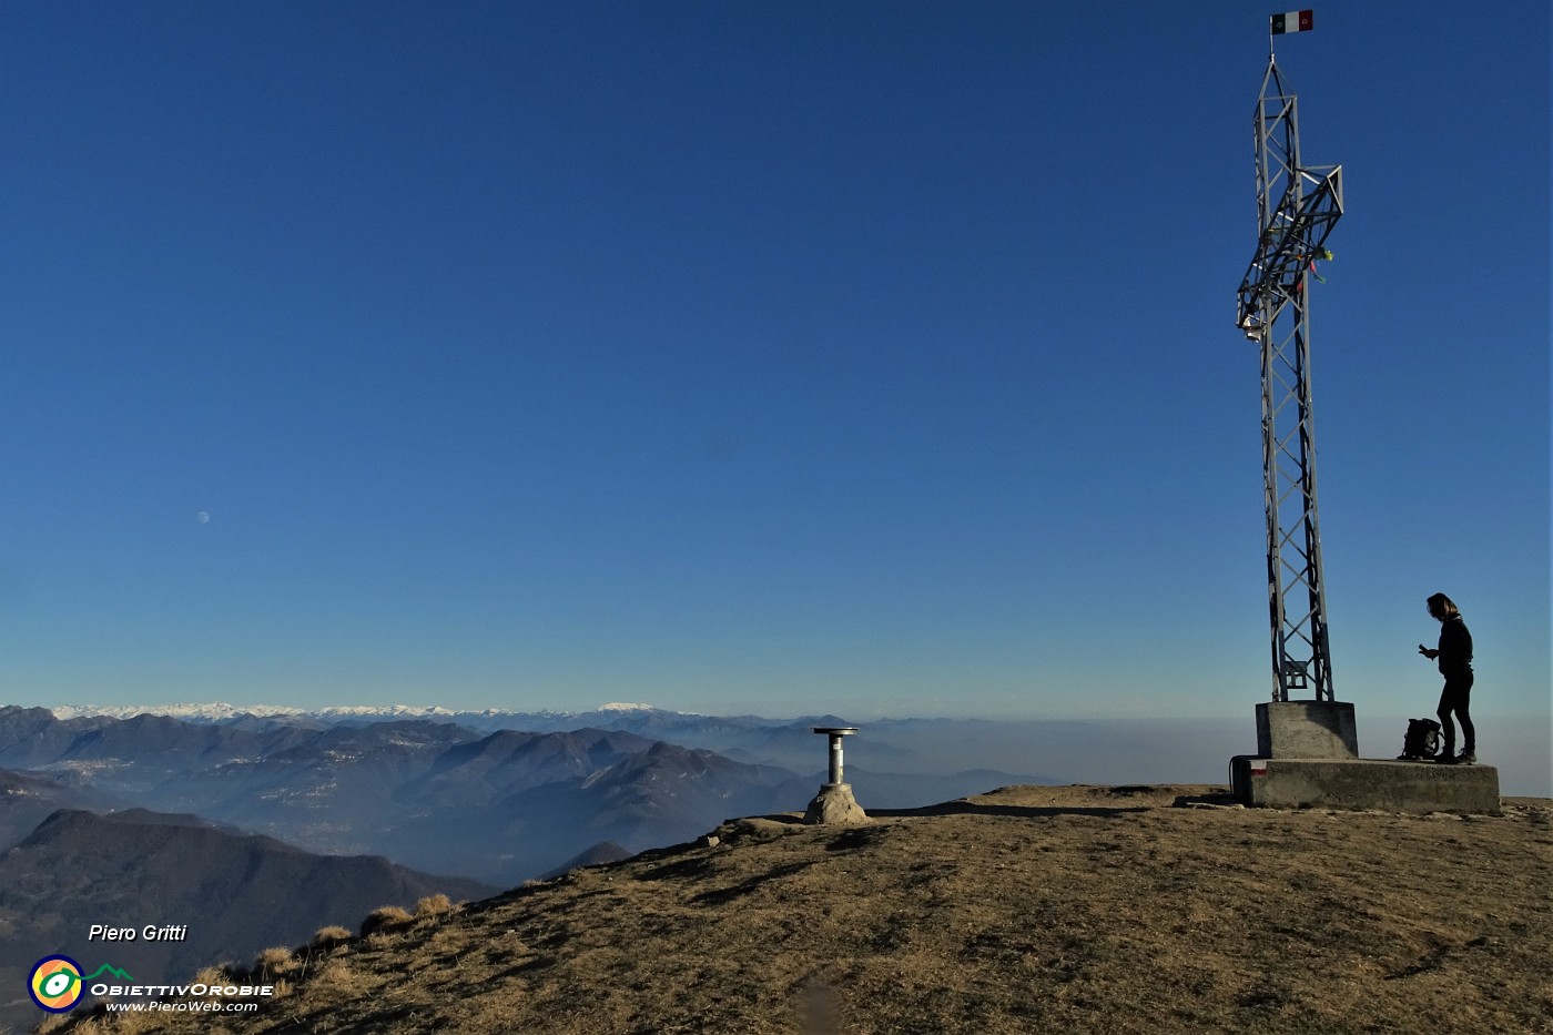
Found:
M 1311 11 L 1275 14 L 1269 39 L 1314 25 Z M 1261 350 L 1273 685 L 1272 701 L 1256 706 L 1256 754 L 1230 758 L 1230 785 L 1241 803 L 1270 808 L 1497 813 L 1492 766 L 1360 758 L 1354 706 L 1332 698 L 1315 513 L 1311 281 L 1320 281 L 1315 263 L 1331 258 L 1326 238 L 1343 214 L 1343 171 L 1300 162 L 1298 106 L 1272 47 L 1255 132 L 1256 252 L 1235 322 Z M 1291 701 L 1291 692 L 1305 692 L 1303 699 Z

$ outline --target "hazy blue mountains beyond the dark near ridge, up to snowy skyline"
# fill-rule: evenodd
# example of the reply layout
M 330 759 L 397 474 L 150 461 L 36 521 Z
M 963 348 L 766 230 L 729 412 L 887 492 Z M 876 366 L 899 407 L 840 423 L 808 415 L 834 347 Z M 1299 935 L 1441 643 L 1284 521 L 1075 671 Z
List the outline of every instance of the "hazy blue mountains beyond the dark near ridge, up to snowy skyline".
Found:
M 627 713 L 643 718 L 593 715 Z M 385 855 L 500 884 L 599 841 L 637 852 L 735 814 L 801 810 L 814 791 L 781 768 L 621 730 L 481 734 L 408 718 L 256 727 L 0 707 L 0 765 L 311 852 Z

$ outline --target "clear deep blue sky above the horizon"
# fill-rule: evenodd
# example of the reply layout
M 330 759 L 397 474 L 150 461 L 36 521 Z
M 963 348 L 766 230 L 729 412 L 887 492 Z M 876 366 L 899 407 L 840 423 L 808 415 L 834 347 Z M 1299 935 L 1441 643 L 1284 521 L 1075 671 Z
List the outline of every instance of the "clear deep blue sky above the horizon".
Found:
M 1249 720 L 1273 8 L 5 5 L 3 698 Z M 1315 25 L 1337 696 L 1545 723 L 1548 6 Z

